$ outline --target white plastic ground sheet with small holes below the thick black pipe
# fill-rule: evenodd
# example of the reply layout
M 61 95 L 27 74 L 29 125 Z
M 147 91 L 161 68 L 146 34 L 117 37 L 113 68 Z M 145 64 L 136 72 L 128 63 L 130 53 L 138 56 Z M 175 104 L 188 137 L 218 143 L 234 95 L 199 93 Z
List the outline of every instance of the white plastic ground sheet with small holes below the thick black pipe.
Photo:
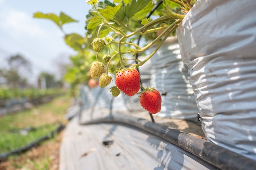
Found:
M 89 113 L 84 110 L 83 120 L 90 120 Z M 97 108 L 94 114 L 103 117 L 107 113 L 106 108 Z M 74 117 L 63 133 L 60 170 L 218 169 L 190 152 L 132 126 L 79 125 L 78 122 L 78 117 Z

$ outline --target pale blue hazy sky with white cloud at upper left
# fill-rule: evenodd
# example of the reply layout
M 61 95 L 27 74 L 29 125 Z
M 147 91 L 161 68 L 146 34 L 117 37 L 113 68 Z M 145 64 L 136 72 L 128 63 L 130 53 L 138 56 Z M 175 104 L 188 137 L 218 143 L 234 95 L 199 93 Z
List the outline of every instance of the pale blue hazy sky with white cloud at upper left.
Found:
M 7 57 L 20 54 L 32 65 L 32 82 L 42 71 L 57 75 L 56 62 L 69 62 L 76 52 L 65 44 L 54 22 L 33 18 L 33 14 L 62 11 L 79 21 L 64 25 L 64 31 L 84 36 L 90 8 L 85 0 L 0 0 L 0 67 Z

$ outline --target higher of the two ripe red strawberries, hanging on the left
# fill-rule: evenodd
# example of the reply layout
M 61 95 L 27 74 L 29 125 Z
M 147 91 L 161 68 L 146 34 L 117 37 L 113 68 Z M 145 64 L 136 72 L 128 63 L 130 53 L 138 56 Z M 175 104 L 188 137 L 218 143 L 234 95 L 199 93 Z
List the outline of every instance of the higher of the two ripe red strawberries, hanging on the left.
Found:
M 116 85 L 126 95 L 133 96 L 139 91 L 139 72 L 135 68 L 126 68 L 116 74 Z

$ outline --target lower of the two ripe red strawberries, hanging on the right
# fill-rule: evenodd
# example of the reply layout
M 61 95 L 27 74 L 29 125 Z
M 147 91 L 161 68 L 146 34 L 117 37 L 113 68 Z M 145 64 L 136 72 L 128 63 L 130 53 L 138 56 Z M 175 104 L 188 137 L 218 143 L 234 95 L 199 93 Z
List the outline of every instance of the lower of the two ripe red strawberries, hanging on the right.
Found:
M 148 88 L 141 92 L 139 96 L 141 106 L 151 114 L 161 110 L 162 98 L 155 88 Z

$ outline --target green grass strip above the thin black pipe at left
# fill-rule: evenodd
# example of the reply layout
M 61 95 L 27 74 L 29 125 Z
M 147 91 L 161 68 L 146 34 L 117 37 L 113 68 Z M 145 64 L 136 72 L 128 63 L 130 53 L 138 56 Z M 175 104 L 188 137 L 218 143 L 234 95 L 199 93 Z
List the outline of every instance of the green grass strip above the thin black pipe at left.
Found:
M 59 122 L 65 121 L 68 106 L 70 97 L 66 94 L 30 110 L 0 117 L 0 154 L 25 146 L 56 129 Z M 26 127 L 36 129 L 21 135 L 19 129 Z

